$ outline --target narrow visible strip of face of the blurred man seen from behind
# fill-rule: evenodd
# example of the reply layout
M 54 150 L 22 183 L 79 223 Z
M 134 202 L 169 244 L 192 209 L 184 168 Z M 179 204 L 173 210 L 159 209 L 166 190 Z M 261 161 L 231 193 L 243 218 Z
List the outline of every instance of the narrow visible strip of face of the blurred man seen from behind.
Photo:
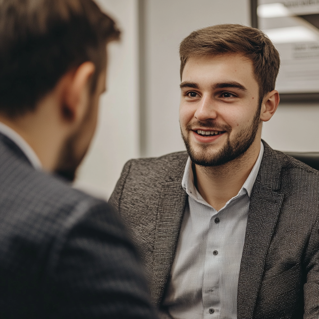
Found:
M 97 125 L 100 95 L 106 88 L 106 70 L 102 71 L 94 93 L 90 94 L 86 114 L 76 132 L 67 139 L 61 152 L 56 173 L 73 181 L 75 172 L 84 158 Z M 88 88 L 89 90 L 89 88 Z

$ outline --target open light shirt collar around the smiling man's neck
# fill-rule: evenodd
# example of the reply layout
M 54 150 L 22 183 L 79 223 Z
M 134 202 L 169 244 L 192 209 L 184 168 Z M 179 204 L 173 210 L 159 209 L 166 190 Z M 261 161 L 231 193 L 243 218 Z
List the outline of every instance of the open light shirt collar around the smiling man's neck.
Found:
M 247 177 L 246 181 L 242 185 L 238 194 L 242 194 L 243 191 L 246 190 L 248 196 L 249 197 L 251 196 L 251 192 L 252 192 L 252 189 L 254 187 L 254 184 L 255 184 L 255 181 L 257 178 L 257 174 L 259 172 L 261 160 L 263 158 L 263 149 L 264 149 L 263 143 L 260 142 L 260 151 L 259 151 L 259 155 L 258 155 L 258 158 L 256 160 L 256 163 L 255 163 L 253 169 L 251 170 L 249 176 Z M 185 170 L 184 170 L 184 175 L 183 175 L 183 179 L 182 179 L 182 187 L 189 196 L 193 197 L 195 200 L 197 200 L 199 202 L 203 202 L 203 204 L 206 204 L 205 200 L 199 194 L 198 190 L 196 189 L 196 187 L 194 185 L 192 161 L 190 160 L 189 157 L 187 159 Z

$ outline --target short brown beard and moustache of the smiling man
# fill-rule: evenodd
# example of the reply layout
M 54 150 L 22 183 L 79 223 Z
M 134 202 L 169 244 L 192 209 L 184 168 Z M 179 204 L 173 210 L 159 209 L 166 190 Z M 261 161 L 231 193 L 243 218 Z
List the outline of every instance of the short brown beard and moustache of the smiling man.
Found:
M 237 133 L 237 135 L 234 137 L 232 141 L 229 139 L 228 135 L 226 144 L 219 152 L 213 155 L 207 154 L 207 149 L 210 145 L 202 145 L 201 150 L 196 152 L 194 149 L 192 149 L 192 146 L 190 145 L 189 135 L 185 137 L 184 134 L 181 132 L 182 139 L 184 141 L 186 150 L 189 154 L 189 158 L 191 159 L 191 161 L 196 165 L 209 167 L 224 165 L 234 159 L 241 158 L 255 141 L 260 122 L 260 109 L 261 105 L 257 108 L 257 112 L 254 116 L 253 123 L 250 127 L 247 127 L 241 130 L 239 133 Z M 231 130 L 231 128 L 228 126 L 221 127 L 220 125 L 217 125 L 217 123 L 215 123 L 215 121 L 211 119 L 205 122 L 198 121 L 191 123 L 187 125 L 186 130 L 189 132 L 191 130 L 191 127 L 194 127 L 194 125 L 207 128 L 213 127 L 218 130 L 226 130 L 227 132 L 230 132 Z

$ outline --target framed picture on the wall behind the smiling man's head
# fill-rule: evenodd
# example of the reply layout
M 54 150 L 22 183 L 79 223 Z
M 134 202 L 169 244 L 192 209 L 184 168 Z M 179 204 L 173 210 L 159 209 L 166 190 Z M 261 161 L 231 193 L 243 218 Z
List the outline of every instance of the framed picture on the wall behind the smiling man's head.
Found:
M 319 0 L 252 0 L 252 25 L 280 53 L 282 102 L 319 101 Z

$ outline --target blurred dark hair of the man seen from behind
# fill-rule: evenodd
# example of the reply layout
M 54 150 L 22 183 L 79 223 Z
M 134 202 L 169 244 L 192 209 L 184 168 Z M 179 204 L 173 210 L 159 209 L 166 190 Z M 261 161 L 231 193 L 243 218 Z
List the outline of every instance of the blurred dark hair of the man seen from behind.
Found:
M 92 0 L 0 0 L 0 112 L 17 116 L 68 70 L 92 61 L 92 90 L 106 63 L 115 22 Z

